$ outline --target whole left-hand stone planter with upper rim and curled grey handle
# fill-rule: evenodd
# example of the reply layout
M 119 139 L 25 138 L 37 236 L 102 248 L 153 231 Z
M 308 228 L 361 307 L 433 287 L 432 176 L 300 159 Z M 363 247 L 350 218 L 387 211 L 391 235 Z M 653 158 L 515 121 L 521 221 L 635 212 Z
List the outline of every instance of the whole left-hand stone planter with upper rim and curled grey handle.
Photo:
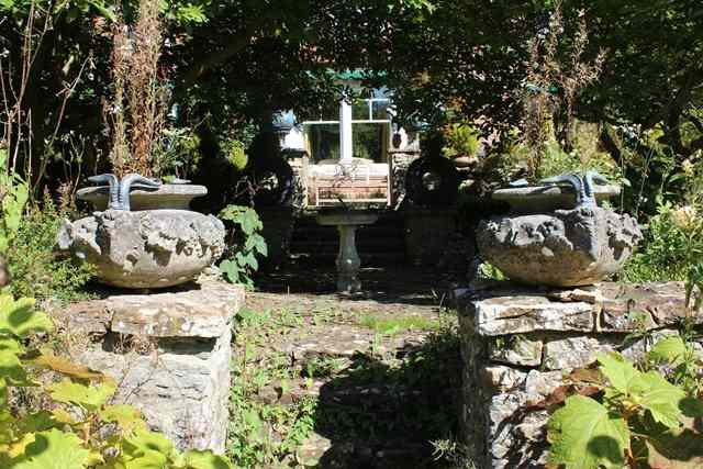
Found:
M 103 283 L 172 287 L 194 280 L 222 255 L 222 222 L 188 210 L 208 193 L 203 186 L 160 185 L 136 174 L 88 180 L 108 186 L 81 189 L 78 198 L 102 211 L 65 221 L 58 247 L 92 264 Z

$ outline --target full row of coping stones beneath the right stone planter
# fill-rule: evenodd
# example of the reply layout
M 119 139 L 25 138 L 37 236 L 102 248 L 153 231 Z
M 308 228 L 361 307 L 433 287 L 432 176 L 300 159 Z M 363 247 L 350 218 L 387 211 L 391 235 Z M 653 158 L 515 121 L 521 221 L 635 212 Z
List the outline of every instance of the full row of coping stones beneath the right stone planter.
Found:
M 540 331 L 623 333 L 676 326 L 685 317 L 683 282 L 601 282 L 554 289 L 491 282 L 460 291 L 475 332 L 499 336 Z M 703 324 L 700 315 L 695 324 Z

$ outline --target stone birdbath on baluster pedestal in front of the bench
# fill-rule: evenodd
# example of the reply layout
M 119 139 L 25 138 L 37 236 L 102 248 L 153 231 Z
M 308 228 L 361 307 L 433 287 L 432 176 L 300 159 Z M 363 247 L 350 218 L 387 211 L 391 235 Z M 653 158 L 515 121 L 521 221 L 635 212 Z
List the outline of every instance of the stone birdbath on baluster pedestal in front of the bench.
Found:
M 317 214 L 317 223 L 336 226 L 339 232 L 339 253 L 337 254 L 337 291 L 356 293 L 361 290 L 359 268 L 361 259 L 356 250 L 356 230 L 376 223 L 378 214 L 361 210 L 332 210 Z

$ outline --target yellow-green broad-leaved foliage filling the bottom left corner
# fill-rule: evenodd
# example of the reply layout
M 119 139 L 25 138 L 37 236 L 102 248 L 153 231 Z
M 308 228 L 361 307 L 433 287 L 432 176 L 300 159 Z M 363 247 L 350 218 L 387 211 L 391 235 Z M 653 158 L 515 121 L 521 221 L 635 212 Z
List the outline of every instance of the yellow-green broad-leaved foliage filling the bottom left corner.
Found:
M 100 467 L 225 469 L 230 461 L 210 451 L 180 453 L 161 434 L 147 428 L 130 405 L 109 404 L 114 382 L 104 375 L 24 345 L 33 333 L 53 327 L 34 300 L 0 295 L 0 467 L 16 469 L 79 469 Z M 40 370 L 64 379 L 37 380 Z M 42 387 L 46 410 L 14 415 L 9 391 Z

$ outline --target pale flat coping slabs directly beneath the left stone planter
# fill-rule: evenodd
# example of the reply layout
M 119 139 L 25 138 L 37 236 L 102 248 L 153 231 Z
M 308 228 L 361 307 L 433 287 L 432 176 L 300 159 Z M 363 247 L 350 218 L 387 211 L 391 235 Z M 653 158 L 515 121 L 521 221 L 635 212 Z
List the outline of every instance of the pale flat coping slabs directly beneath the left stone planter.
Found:
M 208 282 L 199 289 L 113 294 L 52 312 L 71 332 L 149 337 L 220 337 L 244 304 L 244 287 Z

